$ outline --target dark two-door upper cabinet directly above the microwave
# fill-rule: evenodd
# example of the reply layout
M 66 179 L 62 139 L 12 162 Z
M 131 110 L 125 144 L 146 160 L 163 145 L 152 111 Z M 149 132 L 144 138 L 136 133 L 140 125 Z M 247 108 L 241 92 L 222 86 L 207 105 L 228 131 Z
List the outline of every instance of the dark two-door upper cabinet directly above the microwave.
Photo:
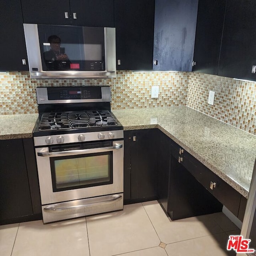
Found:
M 114 27 L 114 0 L 21 0 L 24 23 Z

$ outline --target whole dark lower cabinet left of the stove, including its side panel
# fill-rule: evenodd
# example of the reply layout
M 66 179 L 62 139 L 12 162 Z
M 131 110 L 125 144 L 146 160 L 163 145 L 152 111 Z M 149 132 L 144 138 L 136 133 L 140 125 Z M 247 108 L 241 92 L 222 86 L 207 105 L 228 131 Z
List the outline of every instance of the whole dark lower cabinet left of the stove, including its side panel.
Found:
M 0 224 L 41 219 L 40 206 L 32 138 L 0 140 Z

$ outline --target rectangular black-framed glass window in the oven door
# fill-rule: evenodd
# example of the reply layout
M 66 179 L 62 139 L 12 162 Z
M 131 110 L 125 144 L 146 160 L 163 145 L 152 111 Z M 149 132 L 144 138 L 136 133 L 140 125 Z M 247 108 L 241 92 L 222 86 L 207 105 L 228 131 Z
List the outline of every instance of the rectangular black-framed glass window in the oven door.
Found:
M 53 191 L 113 183 L 112 152 L 50 158 Z

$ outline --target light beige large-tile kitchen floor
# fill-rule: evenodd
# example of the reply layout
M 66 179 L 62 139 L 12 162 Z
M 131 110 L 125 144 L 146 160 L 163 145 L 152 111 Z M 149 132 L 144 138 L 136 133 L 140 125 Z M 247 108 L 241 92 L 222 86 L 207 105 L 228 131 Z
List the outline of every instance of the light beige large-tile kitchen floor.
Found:
M 172 221 L 157 201 L 43 224 L 0 226 L 1 256 L 226 256 L 240 230 L 222 213 Z

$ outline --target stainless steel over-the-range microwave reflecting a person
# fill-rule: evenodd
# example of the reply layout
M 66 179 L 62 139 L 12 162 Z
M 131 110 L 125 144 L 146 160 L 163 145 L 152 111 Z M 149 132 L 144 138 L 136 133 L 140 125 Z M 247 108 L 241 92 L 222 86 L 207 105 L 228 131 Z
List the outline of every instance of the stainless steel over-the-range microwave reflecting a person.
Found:
M 23 25 L 31 78 L 116 77 L 115 28 Z

